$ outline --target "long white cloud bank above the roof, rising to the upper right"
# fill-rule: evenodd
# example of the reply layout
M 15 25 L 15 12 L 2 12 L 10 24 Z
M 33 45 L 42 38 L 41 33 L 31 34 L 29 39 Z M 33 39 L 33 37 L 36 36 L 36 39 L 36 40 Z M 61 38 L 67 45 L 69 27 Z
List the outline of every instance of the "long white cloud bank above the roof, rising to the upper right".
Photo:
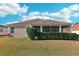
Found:
M 23 20 L 27 19 L 35 19 L 35 18 L 41 18 L 41 19 L 59 19 L 58 21 L 64 21 L 64 22 L 72 22 L 70 20 L 70 17 L 79 17 L 79 5 L 74 4 L 66 8 L 62 8 L 58 12 L 55 13 L 49 13 L 49 12 L 30 12 L 28 16 L 24 16 Z M 61 20 L 62 19 L 62 20 Z

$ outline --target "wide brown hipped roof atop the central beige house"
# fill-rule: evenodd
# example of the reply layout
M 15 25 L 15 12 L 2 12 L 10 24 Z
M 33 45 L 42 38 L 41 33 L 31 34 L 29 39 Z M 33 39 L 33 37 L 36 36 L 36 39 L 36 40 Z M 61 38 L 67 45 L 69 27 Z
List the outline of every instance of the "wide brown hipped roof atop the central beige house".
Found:
M 49 22 L 48 22 L 49 21 Z M 32 25 L 58 25 L 58 24 L 61 24 L 61 25 L 68 25 L 70 23 L 67 23 L 67 22 L 60 22 L 60 21 L 57 21 L 57 20 L 53 20 L 53 19 L 31 19 L 31 20 L 26 20 L 26 21 L 23 21 L 23 22 L 18 22 L 18 23 L 13 23 L 13 24 L 9 24 L 10 26 L 28 26 L 28 24 L 32 24 Z M 9 26 L 8 25 L 8 26 Z

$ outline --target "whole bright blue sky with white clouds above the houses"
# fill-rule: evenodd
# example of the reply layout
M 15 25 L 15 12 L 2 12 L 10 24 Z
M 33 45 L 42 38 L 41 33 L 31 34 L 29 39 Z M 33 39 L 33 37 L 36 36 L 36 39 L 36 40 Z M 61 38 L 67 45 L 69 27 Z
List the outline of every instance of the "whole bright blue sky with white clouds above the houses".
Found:
M 10 24 L 34 18 L 79 22 L 78 3 L 15 3 L 0 4 L 0 24 Z

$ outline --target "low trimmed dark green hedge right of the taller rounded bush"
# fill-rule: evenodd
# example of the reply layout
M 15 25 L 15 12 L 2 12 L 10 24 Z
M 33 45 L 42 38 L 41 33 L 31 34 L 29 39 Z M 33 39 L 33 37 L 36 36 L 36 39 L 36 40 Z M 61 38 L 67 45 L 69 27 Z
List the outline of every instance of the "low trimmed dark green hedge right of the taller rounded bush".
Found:
M 60 39 L 60 40 L 77 40 L 78 35 L 75 33 L 54 33 L 54 32 L 39 32 L 39 39 Z

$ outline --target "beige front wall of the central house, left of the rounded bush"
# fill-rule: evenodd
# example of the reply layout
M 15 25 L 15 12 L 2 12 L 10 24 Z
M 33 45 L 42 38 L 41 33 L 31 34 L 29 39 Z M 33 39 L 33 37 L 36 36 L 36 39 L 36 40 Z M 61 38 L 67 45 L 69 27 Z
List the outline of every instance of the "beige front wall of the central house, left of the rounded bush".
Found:
M 10 28 L 8 30 L 10 31 Z M 26 27 L 14 27 L 14 33 L 11 33 L 11 35 L 17 38 L 27 37 Z

